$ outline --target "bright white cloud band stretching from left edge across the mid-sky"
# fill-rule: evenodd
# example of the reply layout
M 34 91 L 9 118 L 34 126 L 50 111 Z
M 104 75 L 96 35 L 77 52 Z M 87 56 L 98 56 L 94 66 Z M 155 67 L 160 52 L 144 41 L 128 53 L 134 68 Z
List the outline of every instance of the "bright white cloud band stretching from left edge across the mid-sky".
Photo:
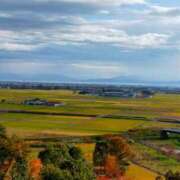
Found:
M 77 18 L 78 24 L 44 31 L 0 31 L 0 49 L 8 51 L 31 51 L 56 45 L 81 45 L 104 43 L 125 48 L 158 48 L 168 43 L 170 34 L 145 33 L 129 35 L 121 30 L 118 21 L 88 23 Z M 74 19 L 75 21 L 75 19 Z

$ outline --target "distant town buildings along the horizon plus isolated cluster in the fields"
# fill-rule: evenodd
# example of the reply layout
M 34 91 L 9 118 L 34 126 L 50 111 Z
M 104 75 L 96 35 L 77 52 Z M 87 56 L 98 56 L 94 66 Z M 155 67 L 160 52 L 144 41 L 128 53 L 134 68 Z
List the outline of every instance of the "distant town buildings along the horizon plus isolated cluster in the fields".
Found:
M 178 87 L 154 87 L 142 85 L 102 85 L 102 84 L 73 84 L 73 83 L 39 83 L 39 82 L 0 82 L 0 88 L 8 89 L 41 89 L 41 90 L 73 90 L 81 95 L 89 94 L 103 97 L 119 98 L 151 98 L 156 93 L 180 94 Z M 25 104 L 46 104 L 48 106 L 61 106 L 56 102 L 45 100 L 27 100 Z

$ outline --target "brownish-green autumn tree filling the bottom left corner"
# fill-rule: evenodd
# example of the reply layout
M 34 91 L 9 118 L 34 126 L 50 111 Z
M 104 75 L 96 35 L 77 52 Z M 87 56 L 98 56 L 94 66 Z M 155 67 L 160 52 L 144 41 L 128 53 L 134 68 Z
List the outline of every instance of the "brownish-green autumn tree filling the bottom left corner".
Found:
M 27 178 L 27 152 L 24 141 L 16 136 L 7 137 L 5 128 L 0 126 L 0 166 L 5 167 L 2 168 L 4 173 L 8 170 L 8 176 L 13 180 Z

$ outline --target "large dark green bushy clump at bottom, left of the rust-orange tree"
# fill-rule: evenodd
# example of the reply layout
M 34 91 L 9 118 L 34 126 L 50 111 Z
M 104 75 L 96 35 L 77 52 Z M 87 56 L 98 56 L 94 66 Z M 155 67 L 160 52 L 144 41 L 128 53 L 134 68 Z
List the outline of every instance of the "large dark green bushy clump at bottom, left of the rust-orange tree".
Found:
M 45 165 L 42 169 L 42 179 L 51 180 L 93 180 L 93 169 L 85 161 L 82 152 L 74 146 L 60 145 L 47 147 L 39 153 L 39 158 Z

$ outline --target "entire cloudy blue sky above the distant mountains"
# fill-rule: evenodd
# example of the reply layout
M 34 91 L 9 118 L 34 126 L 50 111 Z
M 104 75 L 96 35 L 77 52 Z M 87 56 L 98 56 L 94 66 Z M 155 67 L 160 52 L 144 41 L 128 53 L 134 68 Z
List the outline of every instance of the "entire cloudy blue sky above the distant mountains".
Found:
M 0 0 L 0 80 L 180 82 L 179 0 Z

